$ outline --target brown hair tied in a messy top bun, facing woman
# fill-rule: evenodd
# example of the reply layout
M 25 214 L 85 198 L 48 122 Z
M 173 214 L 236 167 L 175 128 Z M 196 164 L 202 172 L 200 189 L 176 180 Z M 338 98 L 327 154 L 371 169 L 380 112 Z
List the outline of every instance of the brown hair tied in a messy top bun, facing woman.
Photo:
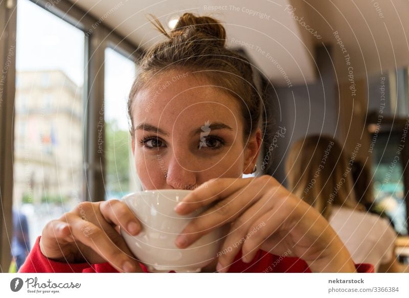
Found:
M 168 39 L 153 46 L 138 62 L 138 74 L 128 99 L 130 133 L 133 137 L 133 99 L 154 77 L 169 70 L 199 72 L 240 101 L 244 140 L 260 125 L 262 99 L 253 81 L 249 61 L 225 47 L 226 33 L 218 20 L 184 13 L 175 28 L 166 32 L 155 17 L 151 23 Z

